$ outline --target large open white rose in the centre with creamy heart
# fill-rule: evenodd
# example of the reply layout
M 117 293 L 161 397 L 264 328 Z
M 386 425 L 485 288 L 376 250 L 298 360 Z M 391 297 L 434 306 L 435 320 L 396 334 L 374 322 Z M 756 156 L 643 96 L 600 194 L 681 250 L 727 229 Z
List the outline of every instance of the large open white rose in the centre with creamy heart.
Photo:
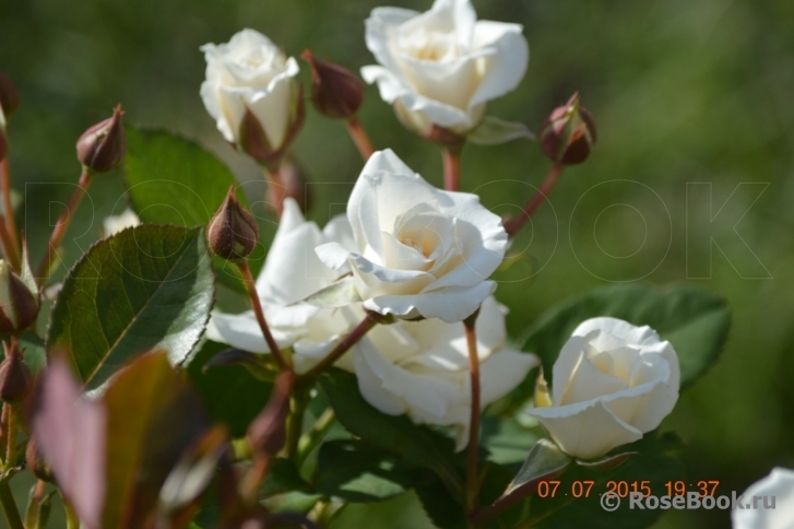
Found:
M 392 151 L 364 166 L 347 219 L 356 247 L 331 243 L 317 254 L 334 270 L 349 267 L 365 308 L 462 321 L 496 289 L 487 278 L 507 246 L 501 219 L 476 195 L 432 187 Z

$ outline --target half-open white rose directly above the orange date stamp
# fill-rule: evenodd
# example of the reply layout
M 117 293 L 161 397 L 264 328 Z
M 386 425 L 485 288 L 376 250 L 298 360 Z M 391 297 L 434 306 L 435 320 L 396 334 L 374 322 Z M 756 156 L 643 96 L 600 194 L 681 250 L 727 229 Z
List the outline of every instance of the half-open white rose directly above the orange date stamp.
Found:
M 554 364 L 553 405 L 529 411 L 567 454 L 593 459 L 659 426 L 678 400 L 673 345 L 616 318 L 582 322 Z

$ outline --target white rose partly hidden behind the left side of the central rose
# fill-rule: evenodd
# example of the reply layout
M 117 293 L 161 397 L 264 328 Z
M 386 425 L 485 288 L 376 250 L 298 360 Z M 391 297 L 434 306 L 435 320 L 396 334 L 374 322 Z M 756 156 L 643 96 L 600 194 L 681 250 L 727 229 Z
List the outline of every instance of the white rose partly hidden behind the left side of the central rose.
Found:
M 332 219 L 320 231 L 316 223 L 306 222 L 297 202 L 287 198 L 279 231 L 257 278 L 257 292 L 273 338 L 280 348 L 293 348 L 297 373 L 309 371 L 364 318 L 360 304 L 319 308 L 299 303 L 339 278 L 315 254 L 316 246 L 331 240 L 343 246 L 353 244 L 344 215 Z M 206 336 L 245 351 L 270 352 L 252 310 L 242 314 L 214 310 Z

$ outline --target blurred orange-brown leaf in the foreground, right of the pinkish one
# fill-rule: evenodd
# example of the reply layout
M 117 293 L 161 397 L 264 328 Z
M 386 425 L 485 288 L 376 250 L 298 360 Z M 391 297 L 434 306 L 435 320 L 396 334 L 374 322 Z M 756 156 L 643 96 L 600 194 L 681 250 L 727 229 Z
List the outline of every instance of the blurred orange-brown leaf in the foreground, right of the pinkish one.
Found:
M 141 527 L 169 472 L 209 423 L 198 396 L 164 353 L 132 363 L 103 400 L 108 421 L 103 527 Z

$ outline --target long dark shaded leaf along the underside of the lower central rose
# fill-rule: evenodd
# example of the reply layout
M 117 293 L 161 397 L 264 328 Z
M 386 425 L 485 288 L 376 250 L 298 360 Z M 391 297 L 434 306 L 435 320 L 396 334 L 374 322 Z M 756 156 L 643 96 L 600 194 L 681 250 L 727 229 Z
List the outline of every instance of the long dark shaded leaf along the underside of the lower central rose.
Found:
M 332 369 L 319 383 L 347 431 L 399 456 L 401 465 L 431 470 L 455 497 L 461 497 L 463 485 L 452 439 L 417 426 L 405 415 L 391 416 L 376 410 L 358 391 L 355 375 Z

